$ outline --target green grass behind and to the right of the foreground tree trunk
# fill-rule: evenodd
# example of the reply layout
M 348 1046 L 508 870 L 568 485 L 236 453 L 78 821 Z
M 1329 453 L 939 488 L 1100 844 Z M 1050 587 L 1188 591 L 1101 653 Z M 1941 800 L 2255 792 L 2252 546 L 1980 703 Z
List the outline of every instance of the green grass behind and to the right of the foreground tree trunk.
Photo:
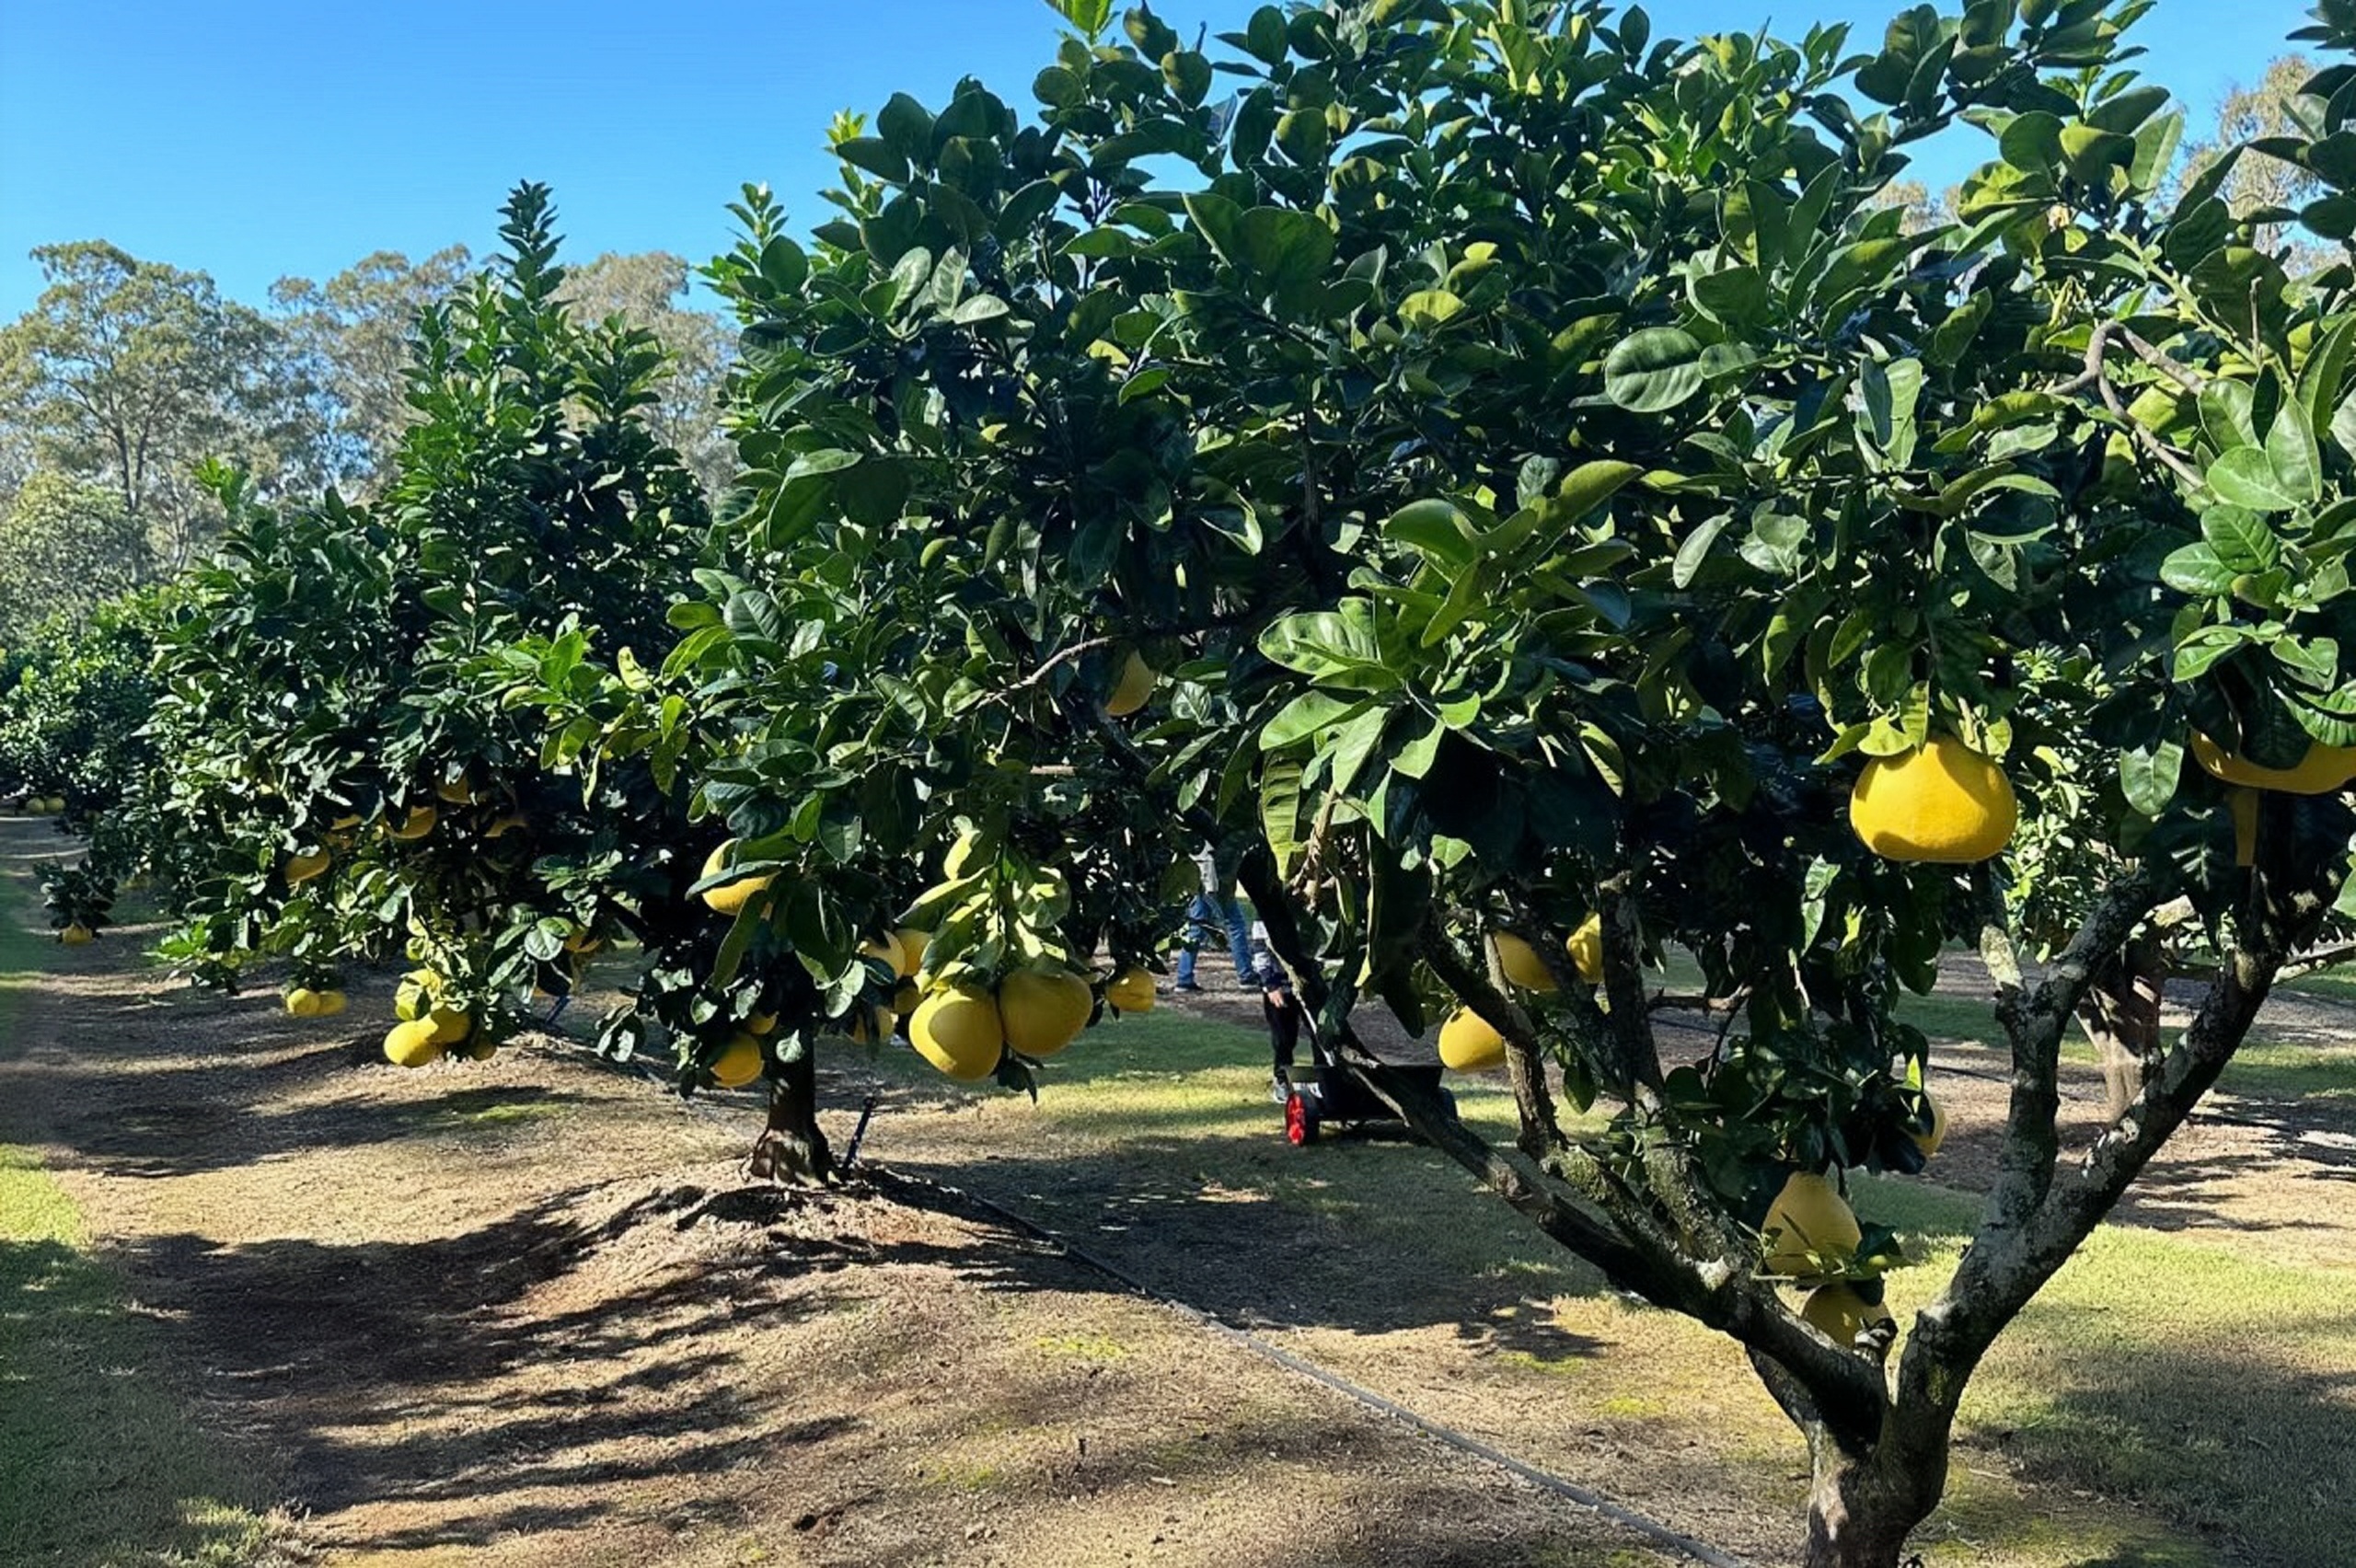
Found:
M 1988 1026 L 1972 1003 L 1908 1005 L 1941 1019 L 1934 1034 L 1963 1034 L 1965 1012 Z M 2356 1092 L 2344 1052 L 2252 1045 L 2236 1074 L 2243 1095 Z M 1520 1316 L 1536 1311 L 1604 1347 L 1548 1354 L 1498 1335 L 1498 1375 L 1524 1389 L 1543 1382 L 1567 1424 L 1626 1420 L 1628 1446 L 1699 1439 L 1746 1471 L 1746 1495 L 1755 1488 L 1762 1507 L 1798 1516 L 1795 1439 L 1725 1340 L 1602 1290 L 1425 1149 L 1256 1158 L 1277 1140 L 1265 1081 L 1258 1031 L 1154 1012 L 1091 1034 L 1048 1067 L 1037 1111 L 1006 1111 L 1157 1187 L 1277 1203 L 1348 1227 L 1374 1255 L 1496 1281 L 1522 1297 Z M 1510 1137 L 1501 1085 L 1454 1088 L 1465 1121 Z M 1979 1203 L 1922 1180 L 1864 1177 L 1857 1208 L 1897 1227 L 1922 1260 L 1890 1281 L 1908 1321 L 1951 1274 Z M 1918 1542 L 1934 1563 L 1988 1561 L 1981 1552 L 1993 1549 L 2005 1563 L 2198 1568 L 2219 1561 L 2219 1542 L 2252 1561 L 2344 1561 L 2356 1540 L 2356 1490 L 2344 1486 L 2356 1474 L 2347 1271 L 2106 1227 L 1998 1342 L 1958 1436 L 1951 1504 Z

